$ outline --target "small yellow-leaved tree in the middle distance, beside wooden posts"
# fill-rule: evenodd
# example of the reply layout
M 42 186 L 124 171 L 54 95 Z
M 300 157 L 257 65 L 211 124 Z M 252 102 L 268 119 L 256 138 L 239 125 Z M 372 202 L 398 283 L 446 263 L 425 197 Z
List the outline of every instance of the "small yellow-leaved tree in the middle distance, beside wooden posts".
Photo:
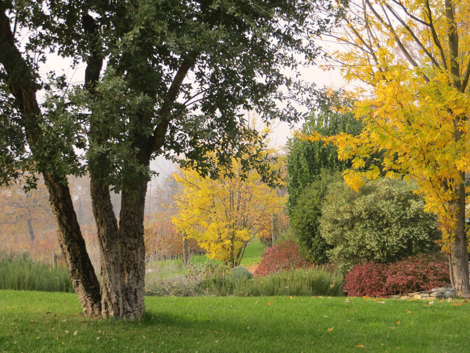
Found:
M 173 175 L 181 187 L 173 224 L 195 239 L 209 258 L 238 266 L 246 246 L 267 225 L 266 217 L 282 210 L 285 197 L 260 182 L 260 175 L 243 173 L 240 160 L 218 179 L 201 177 L 195 170 L 179 169 Z M 271 226 L 271 224 L 269 224 Z

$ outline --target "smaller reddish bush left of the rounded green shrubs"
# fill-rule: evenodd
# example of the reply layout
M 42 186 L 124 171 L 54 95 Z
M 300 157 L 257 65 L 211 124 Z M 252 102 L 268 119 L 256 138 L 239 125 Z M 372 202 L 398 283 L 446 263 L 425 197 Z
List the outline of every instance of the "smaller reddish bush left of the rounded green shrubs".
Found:
M 254 270 L 254 275 L 265 276 L 270 273 L 291 268 L 308 267 L 312 264 L 300 253 L 299 246 L 293 240 L 285 240 L 266 249 L 261 255 L 261 262 Z

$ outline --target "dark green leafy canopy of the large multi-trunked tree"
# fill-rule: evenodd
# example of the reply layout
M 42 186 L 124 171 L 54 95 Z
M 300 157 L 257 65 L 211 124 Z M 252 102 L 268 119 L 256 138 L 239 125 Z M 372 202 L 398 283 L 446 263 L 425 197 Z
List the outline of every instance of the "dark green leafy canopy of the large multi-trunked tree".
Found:
M 266 121 L 297 121 L 300 114 L 286 100 L 286 86 L 291 97 L 298 93 L 296 99 L 311 103 L 310 89 L 283 69 L 296 70 L 299 58 L 311 61 L 318 54 L 305 38 L 331 25 L 317 16 L 321 6 L 332 4 L 39 0 L 2 5 L 0 11 L 15 18 L 16 34 L 34 35 L 22 38 L 24 62 L 8 55 L 11 46 L 0 50 L 6 53 L 0 57 L 0 125 L 6 127 L 0 129 L 5 151 L 0 177 L 17 177 L 15 170 L 31 169 L 34 161 L 40 171 L 81 174 L 88 161 L 121 189 L 150 172 L 149 157 L 165 154 L 216 177 L 221 169 L 215 161 L 227 164 L 249 150 L 244 167 L 254 165 L 269 179 L 267 164 L 255 158 L 261 156 L 262 138 L 243 111 L 255 110 Z M 49 51 L 84 62 L 85 84 L 72 88 L 61 73 L 40 77 Z M 23 108 L 13 99 L 9 75 L 25 85 L 36 80 L 46 90 L 42 115 L 28 130 L 38 139 L 34 155 L 25 148 L 32 135 L 21 126 Z M 285 108 L 278 107 L 280 101 L 287 102 Z M 249 144 L 259 150 L 253 154 Z M 213 160 L 208 151 L 215 151 Z

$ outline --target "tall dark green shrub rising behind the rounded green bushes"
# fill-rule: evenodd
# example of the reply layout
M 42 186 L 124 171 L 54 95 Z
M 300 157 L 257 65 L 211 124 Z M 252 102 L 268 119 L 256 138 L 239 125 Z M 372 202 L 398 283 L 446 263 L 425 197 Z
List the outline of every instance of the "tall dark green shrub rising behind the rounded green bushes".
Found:
M 341 98 L 341 92 L 328 96 L 318 92 L 316 112 L 304 123 L 302 134 L 317 132 L 324 136 L 345 132 L 356 135 L 361 132 L 362 124 L 350 112 L 341 112 L 351 108 L 353 102 Z M 289 140 L 287 157 L 288 193 L 287 209 L 292 216 L 297 199 L 302 190 L 312 183 L 322 169 L 344 170 L 351 166 L 351 161 L 338 160 L 337 148 L 323 142 L 310 142 L 294 137 Z

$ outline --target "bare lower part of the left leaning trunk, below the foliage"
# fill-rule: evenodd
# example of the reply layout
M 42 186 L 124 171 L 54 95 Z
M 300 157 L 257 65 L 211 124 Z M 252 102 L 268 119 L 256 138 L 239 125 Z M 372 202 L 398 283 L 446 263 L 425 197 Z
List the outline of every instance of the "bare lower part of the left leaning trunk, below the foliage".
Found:
M 75 292 L 86 315 L 100 315 L 100 286 L 82 237 L 69 186 L 48 173 L 43 175 L 55 216 L 60 249 Z

